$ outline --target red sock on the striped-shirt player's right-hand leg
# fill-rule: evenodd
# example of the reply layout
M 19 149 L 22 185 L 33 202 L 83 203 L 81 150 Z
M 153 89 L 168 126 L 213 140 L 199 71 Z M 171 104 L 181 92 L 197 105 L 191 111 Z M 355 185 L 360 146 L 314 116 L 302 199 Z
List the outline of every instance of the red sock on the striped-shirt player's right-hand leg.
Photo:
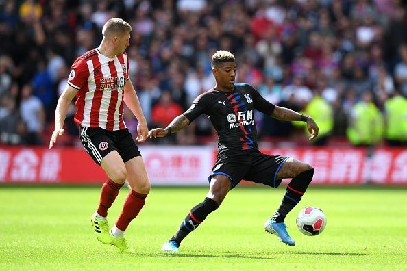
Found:
M 141 194 L 134 190 L 131 190 L 125 199 L 123 210 L 119 218 L 116 221 L 116 227 L 121 231 L 125 231 L 130 222 L 136 218 L 141 208 L 145 203 L 147 194 Z

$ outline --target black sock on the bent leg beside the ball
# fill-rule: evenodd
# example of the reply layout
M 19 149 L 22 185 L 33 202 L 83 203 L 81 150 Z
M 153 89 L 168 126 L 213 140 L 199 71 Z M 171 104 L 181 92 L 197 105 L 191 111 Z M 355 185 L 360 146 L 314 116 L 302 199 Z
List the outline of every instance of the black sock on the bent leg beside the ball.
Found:
M 288 212 L 291 211 L 299 201 L 301 201 L 302 195 L 306 192 L 313 176 L 314 169 L 312 168 L 301 172 L 291 180 L 287 185 L 286 194 L 284 195 L 282 203 L 271 220 L 277 223 L 284 222 L 284 218 L 286 218 Z

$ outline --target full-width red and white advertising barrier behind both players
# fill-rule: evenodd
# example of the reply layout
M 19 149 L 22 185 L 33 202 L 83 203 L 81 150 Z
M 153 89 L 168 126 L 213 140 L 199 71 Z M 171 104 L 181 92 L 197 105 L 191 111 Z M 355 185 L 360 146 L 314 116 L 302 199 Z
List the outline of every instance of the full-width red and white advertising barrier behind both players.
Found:
M 314 166 L 313 185 L 407 185 L 407 149 L 262 149 Z M 207 185 L 213 146 L 140 146 L 153 185 Z M 102 183 L 106 174 L 83 149 L 0 146 L 0 183 Z M 288 180 L 285 180 L 288 181 Z

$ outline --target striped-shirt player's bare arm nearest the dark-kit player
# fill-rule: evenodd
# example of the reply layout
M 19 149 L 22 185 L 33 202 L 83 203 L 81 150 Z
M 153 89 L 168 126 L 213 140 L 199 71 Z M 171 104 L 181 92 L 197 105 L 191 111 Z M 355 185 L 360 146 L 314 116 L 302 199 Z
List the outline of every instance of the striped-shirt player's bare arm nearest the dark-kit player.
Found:
M 141 109 L 140 101 L 138 101 L 138 96 L 132 81 L 127 80 L 123 90 L 124 102 L 138 120 L 136 140 L 137 142 L 145 142 L 145 140 L 148 138 L 149 128 L 147 127 L 147 120 L 145 120 L 145 116 L 143 114 L 143 110 Z

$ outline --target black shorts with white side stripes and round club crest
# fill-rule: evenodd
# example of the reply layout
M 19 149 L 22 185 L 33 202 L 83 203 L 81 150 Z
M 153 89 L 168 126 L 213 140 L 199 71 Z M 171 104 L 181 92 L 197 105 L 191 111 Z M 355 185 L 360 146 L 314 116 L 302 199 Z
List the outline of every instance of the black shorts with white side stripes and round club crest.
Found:
M 99 165 L 103 157 L 114 150 L 119 153 L 123 162 L 141 156 L 127 128 L 108 131 L 99 127 L 81 127 L 80 138 L 85 150 Z

